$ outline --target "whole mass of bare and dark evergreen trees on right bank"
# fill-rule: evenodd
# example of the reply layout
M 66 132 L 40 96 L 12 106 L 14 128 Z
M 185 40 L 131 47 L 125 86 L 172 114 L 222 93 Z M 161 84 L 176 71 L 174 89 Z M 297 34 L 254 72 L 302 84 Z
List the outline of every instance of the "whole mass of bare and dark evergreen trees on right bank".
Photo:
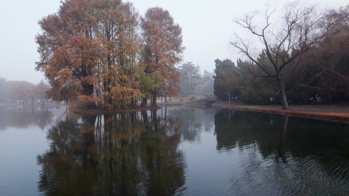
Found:
M 349 5 L 320 11 L 315 6 L 289 3 L 277 24 L 276 10 L 265 12 L 264 25 L 256 14 L 236 20 L 262 43 L 254 54 L 250 42 L 236 37 L 231 44 L 246 60 L 215 61 L 215 94 L 238 97 L 248 104 L 339 101 L 349 97 Z

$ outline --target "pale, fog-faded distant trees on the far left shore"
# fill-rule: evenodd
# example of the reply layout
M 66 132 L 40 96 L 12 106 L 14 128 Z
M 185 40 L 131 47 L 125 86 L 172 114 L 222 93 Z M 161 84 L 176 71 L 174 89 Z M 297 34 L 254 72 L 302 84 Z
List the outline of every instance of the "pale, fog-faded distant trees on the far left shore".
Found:
M 34 85 L 28 81 L 7 81 L 0 78 L 0 103 L 35 104 L 48 103 L 46 91 L 49 86 L 41 81 Z

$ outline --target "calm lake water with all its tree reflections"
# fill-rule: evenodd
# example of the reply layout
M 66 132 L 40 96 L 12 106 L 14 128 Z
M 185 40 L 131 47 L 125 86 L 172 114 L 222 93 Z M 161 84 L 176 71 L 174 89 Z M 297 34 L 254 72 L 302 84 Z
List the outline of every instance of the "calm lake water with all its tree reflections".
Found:
M 0 107 L 0 195 L 347 195 L 349 125 L 163 107 Z

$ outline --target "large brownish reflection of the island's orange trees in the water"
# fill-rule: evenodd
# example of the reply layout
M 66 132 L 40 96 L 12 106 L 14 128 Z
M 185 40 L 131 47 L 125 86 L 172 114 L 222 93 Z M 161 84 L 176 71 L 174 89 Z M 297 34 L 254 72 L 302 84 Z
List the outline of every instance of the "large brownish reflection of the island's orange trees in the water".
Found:
M 66 117 L 37 157 L 42 195 L 173 195 L 185 191 L 176 118 L 156 111 Z

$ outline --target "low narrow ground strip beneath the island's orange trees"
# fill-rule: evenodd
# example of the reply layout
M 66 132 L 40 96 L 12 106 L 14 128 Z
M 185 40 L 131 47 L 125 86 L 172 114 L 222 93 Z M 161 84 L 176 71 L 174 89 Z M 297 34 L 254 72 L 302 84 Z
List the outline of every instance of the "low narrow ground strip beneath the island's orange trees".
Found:
M 112 110 L 106 110 L 106 109 L 74 109 L 74 113 L 77 115 L 101 115 L 101 114 L 120 114 L 120 113 L 132 113 L 136 111 L 145 111 L 145 110 L 158 110 L 161 107 L 156 106 L 136 106 L 132 109 L 112 109 Z

